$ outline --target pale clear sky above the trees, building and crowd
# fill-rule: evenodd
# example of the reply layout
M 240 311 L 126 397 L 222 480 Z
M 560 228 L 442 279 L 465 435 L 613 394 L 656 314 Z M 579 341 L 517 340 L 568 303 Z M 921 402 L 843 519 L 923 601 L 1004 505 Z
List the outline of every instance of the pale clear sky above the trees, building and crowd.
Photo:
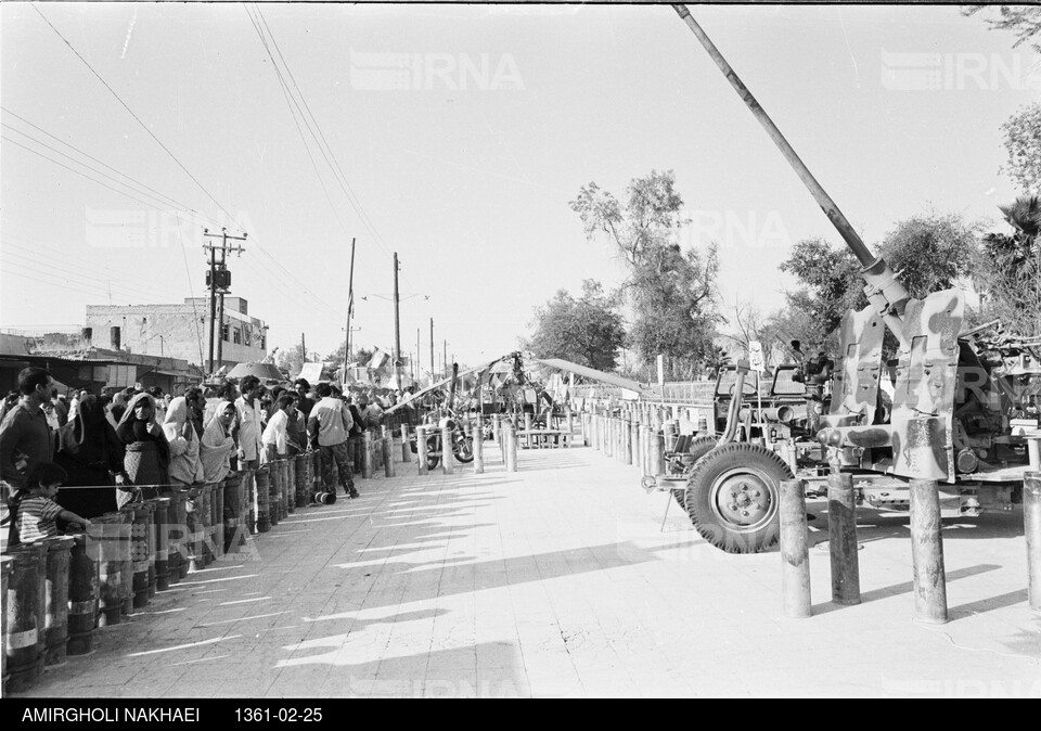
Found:
M 1041 92 L 1012 34 L 951 7 L 692 12 L 869 246 L 930 210 L 999 226 L 1000 126 Z M 476 364 L 557 291 L 622 281 L 568 202 L 652 170 L 680 243 L 718 244 L 724 315 L 781 307 L 792 246 L 839 242 L 669 7 L 5 2 L 0 106 L 8 331 L 204 296 L 227 227 L 271 347 L 343 342 L 354 239 L 352 342 L 393 348 L 397 253 L 402 352 L 428 367 L 433 320 L 438 368 Z

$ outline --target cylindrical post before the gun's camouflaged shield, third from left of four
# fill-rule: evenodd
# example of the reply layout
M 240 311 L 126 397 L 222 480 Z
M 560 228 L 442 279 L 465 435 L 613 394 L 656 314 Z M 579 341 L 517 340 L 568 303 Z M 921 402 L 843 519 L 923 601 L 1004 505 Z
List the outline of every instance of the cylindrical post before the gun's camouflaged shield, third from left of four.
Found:
M 914 618 L 947 621 L 947 576 L 940 535 L 940 493 L 935 479 L 911 480 L 911 559 L 914 564 Z

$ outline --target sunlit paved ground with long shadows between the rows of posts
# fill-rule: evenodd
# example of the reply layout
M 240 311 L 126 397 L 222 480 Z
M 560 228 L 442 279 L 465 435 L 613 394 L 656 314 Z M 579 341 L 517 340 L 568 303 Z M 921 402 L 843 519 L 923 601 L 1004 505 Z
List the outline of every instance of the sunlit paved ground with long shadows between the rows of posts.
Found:
M 25 696 L 1041 696 L 1023 513 L 943 531 L 952 621 L 911 618 L 904 516 L 860 516 L 863 603 L 782 617 L 780 556 L 706 544 L 587 448 L 359 480 L 99 630 Z M 823 504 L 811 527 L 826 529 Z

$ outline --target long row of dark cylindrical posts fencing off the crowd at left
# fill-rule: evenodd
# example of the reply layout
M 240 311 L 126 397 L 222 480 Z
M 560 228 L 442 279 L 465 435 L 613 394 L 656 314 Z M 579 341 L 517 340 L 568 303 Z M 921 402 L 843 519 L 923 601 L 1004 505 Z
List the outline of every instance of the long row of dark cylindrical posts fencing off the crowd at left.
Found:
M 86 533 L 9 547 L 3 691 L 27 690 L 44 666 L 91 653 L 97 630 L 308 504 L 323 492 L 319 459 L 308 452 L 218 484 L 167 489 L 93 518 Z

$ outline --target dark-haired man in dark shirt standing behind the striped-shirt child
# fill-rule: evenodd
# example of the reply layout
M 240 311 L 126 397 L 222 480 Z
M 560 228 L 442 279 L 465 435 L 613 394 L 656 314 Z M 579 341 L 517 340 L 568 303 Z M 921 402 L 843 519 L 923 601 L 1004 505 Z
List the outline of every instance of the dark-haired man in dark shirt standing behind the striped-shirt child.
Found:
M 22 398 L 0 424 L 0 479 L 12 487 L 25 487 L 36 465 L 54 457 L 54 437 L 41 408 L 50 403 L 54 387 L 54 380 L 42 368 L 25 368 L 18 373 Z

